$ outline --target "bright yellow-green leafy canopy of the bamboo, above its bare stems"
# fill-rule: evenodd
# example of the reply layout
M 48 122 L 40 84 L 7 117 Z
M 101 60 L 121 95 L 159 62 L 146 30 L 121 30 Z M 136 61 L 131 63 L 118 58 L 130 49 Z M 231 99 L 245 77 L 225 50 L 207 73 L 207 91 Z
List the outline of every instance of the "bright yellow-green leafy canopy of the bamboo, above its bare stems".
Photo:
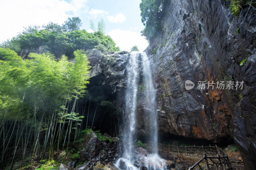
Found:
M 64 102 L 83 96 L 89 83 L 90 66 L 86 55 L 81 50 L 75 51 L 74 55 L 75 63 L 68 62 L 64 55 L 56 61 L 49 52 L 30 53 L 31 60 L 22 60 L 14 51 L 0 48 L 1 117 L 29 120 L 34 112 L 37 113 L 35 118 L 43 113 L 49 116 L 57 112 L 57 119 L 81 121 L 82 117 L 77 113 L 62 112 L 66 110 Z M 56 109 L 52 107 L 53 103 Z

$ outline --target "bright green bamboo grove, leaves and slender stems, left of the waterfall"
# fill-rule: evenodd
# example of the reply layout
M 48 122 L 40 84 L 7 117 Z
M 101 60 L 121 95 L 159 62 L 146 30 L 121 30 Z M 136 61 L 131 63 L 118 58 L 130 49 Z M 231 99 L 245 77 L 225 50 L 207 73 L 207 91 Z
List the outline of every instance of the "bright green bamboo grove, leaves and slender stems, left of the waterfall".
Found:
M 76 105 L 86 92 L 90 66 L 82 50 L 74 56 L 74 63 L 49 52 L 30 53 L 30 60 L 22 60 L 16 52 L 0 48 L 2 168 L 4 156 L 13 154 L 12 169 L 18 150 L 22 166 L 27 155 L 29 160 L 47 159 L 45 152 L 50 158 L 54 147 L 68 148 L 76 140 L 83 119 Z

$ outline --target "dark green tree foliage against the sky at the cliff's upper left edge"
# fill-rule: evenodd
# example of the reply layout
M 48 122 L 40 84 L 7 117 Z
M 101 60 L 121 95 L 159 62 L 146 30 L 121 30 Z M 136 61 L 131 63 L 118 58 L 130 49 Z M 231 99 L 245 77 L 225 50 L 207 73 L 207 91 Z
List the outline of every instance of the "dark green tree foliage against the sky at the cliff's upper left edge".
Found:
M 160 20 L 163 17 L 163 9 L 166 0 L 142 0 L 140 3 L 141 22 L 145 28 L 141 34 L 151 41 L 156 33 L 161 30 Z

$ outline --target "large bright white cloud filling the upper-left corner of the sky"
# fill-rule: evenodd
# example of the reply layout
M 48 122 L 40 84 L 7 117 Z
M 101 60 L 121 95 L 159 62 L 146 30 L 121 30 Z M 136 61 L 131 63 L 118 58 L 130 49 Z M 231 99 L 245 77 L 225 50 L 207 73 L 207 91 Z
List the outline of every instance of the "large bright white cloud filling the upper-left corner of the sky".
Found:
M 1 2 L 0 16 L 0 42 L 12 38 L 23 30 L 23 26 L 41 26 L 49 21 L 61 24 L 68 17 L 79 16 L 82 12 L 87 12 L 87 0 L 9 0 Z M 69 13 L 69 14 L 68 14 Z

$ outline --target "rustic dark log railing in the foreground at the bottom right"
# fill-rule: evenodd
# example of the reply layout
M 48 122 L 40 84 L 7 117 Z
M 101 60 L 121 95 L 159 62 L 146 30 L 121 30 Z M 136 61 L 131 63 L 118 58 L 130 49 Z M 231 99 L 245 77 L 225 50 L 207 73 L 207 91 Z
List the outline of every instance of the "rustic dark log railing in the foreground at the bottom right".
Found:
M 210 166 L 211 169 L 216 168 L 216 170 L 232 170 L 227 154 L 222 157 L 220 157 L 220 155 L 217 155 L 217 157 L 206 156 L 206 153 L 203 155 L 204 157 L 196 162 L 195 165 L 191 166 L 188 170 L 192 170 L 196 168 L 196 166 L 199 167 L 199 170 L 204 170 L 204 167 L 199 165 L 203 160 L 205 161 L 207 170 L 210 170 Z

